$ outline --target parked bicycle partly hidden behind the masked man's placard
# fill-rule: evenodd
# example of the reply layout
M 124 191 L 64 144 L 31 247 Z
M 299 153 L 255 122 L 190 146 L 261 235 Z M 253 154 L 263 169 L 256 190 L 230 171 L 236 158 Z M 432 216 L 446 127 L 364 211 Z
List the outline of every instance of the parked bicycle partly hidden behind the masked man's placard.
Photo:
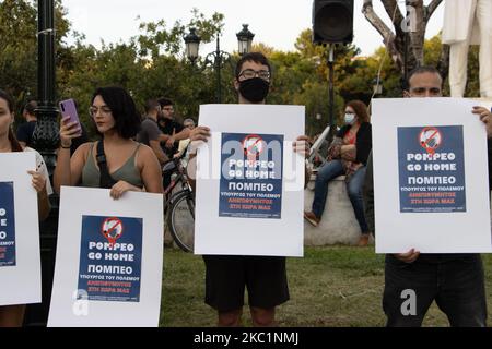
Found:
M 172 176 L 164 190 L 164 215 L 174 242 L 185 252 L 192 252 L 195 242 L 195 193 L 188 183 L 181 156 L 164 164 L 162 173 Z M 173 193 L 180 185 L 180 190 Z M 166 212 L 167 210 L 167 212 Z

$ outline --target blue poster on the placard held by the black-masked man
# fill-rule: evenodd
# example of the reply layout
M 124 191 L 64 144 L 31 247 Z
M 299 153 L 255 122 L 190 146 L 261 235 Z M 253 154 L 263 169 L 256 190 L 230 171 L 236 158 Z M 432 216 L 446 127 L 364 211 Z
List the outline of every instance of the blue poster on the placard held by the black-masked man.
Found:
M 280 219 L 283 135 L 222 133 L 219 216 Z

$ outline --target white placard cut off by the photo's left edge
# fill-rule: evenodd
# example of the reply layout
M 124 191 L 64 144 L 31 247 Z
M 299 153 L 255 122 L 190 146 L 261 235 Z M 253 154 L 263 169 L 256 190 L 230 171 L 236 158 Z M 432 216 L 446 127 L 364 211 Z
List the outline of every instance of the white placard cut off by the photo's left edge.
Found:
M 27 173 L 35 155 L 0 153 L 0 305 L 39 303 L 37 193 Z

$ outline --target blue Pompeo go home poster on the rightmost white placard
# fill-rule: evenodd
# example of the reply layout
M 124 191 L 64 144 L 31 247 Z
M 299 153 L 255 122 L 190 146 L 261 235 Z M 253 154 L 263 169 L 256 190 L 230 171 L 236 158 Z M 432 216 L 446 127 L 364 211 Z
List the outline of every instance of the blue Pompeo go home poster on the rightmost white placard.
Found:
M 401 213 L 466 212 L 461 125 L 398 128 Z

